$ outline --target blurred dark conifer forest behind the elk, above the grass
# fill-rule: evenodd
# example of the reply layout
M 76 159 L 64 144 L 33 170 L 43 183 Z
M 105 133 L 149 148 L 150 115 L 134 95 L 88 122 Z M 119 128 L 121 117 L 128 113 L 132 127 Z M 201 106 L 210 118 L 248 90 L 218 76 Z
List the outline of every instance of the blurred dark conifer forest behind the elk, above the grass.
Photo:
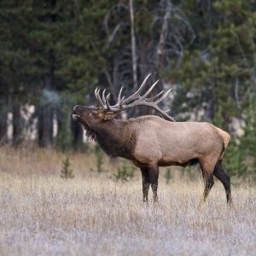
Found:
M 225 168 L 256 178 L 253 0 L 2 0 L 0 145 L 86 151 L 73 106 L 95 104 L 96 86 L 115 102 L 148 73 L 153 93 L 172 87 L 162 108 L 229 131 Z

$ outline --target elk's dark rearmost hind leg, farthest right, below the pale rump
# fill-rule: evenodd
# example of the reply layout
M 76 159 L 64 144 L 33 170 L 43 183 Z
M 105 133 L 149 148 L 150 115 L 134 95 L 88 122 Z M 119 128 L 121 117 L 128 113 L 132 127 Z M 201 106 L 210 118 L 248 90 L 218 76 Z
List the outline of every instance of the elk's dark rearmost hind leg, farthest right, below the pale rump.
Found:
M 217 165 L 214 168 L 213 175 L 218 178 L 218 180 L 223 183 L 226 198 L 228 204 L 232 202 L 231 200 L 231 189 L 230 189 L 230 176 L 224 172 L 224 168 L 222 166 L 222 161 L 218 161 Z

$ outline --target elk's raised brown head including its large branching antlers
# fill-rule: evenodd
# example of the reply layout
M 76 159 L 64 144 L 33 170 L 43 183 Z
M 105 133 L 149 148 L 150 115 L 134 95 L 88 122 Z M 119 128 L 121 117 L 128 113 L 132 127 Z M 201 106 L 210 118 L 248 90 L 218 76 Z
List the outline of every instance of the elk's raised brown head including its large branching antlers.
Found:
M 100 96 L 100 89 L 96 88 L 95 96 L 96 100 L 99 104 L 99 107 L 85 107 L 77 105 L 73 108 L 73 119 L 78 120 L 81 125 L 84 125 L 85 129 L 88 127 L 94 126 L 102 121 L 107 121 L 109 119 L 113 119 L 118 113 L 128 110 L 130 108 L 135 108 L 137 106 L 147 106 L 149 108 L 154 108 L 157 112 L 159 112 L 165 119 L 169 119 L 175 122 L 175 119 L 167 114 L 169 110 L 162 110 L 157 105 L 162 102 L 169 92 L 172 90 L 167 90 L 164 95 L 163 91 L 160 91 L 157 95 L 153 97 L 148 97 L 150 92 L 154 89 L 155 85 L 158 83 L 157 80 L 144 94 L 140 96 L 143 91 L 145 84 L 148 80 L 148 76 L 143 80 L 143 84 L 139 87 L 139 89 L 128 96 L 125 99 L 125 96 L 121 96 L 123 87 L 119 90 L 118 101 L 115 105 L 111 106 L 109 104 L 110 93 L 105 96 L 106 89 L 102 91 L 102 96 Z

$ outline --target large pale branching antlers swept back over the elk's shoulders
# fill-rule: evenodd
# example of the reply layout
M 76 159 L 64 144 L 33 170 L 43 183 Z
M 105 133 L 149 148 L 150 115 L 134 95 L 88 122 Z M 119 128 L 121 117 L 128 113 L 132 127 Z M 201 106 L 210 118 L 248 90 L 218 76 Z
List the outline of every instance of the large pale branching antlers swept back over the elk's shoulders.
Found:
M 110 104 L 108 102 L 109 97 L 110 97 L 110 93 L 108 93 L 108 96 L 105 97 L 105 91 L 106 90 L 103 90 L 102 97 L 101 97 L 100 96 L 100 89 L 96 88 L 96 90 L 95 90 L 96 100 L 99 103 L 99 105 L 102 107 L 102 109 L 104 109 L 106 111 L 111 111 L 113 113 L 118 113 L 118 112 L 127 110 L 129 108 L 134 108 L 134 107 L 137 107 L 137 106 L 147 106 L 147 107 L 150 107 L 150 108 L 154 108 L 156 111 L 161 113 L 166 119 L 169 119 L 169 120 L 175 122 L 175 119 L 167 113 L 170 109 L 162 110 L 157 106 L 158 103 L 162 102 L 166 98 L 166 96 L 169 94 L 169 92 L 172 90 L 172 88 L 167 90 L 166 93 L 163 96 L 161 96 L 162 93 L 163 93 L 163 90 L 162 90 L 157 95 L 155 95 L 151 98 L 147 98 L 149 93 L 154 89 L 155 85 L 158 83 L 159 80 L 157 80 L 143 94 L 143 96 L 140 96 L 140 93 L 144 89 L 144 86 L 145 86 L 149 76 L 150 76 L 150 73 L 143 80 L 143 84 L 141 84 L 139 89 L 134 94 L 132 94 L 131 96 L 129 96 L 126 99 L 125 99 L 125 96 L 123 96 L 121 98 L 121 94 L 122 94 L 122 90 L 123 90 L 123 87 L 121 87 L 121 89 L 119 90 L 118 102 L 113 106 L 110 106 Z M 160 98 L 159 98 L 159 96 L 160 96 Z

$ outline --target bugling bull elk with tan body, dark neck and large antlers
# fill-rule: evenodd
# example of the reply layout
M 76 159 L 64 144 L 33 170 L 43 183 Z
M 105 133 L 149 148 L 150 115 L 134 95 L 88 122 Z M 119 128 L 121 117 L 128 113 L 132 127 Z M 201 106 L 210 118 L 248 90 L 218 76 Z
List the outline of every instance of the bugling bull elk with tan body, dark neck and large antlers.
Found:
M 141 169 L 143 176 L 143 201 L 148 201 L 149 184 L 153 190 L 154 202 L 160 166 L 187 166 L 199 162 L 205 181 L 203 201 L 214 183 L 213 175 L 224 185 L 228 203 L 231 201 L 230 177 L 224 172 L 222 159 L 224 149 L 230 142 L 230 135 L 206 122 L 176 122 L 175 119 L 158 107 L 170 90 L 163 95 L 148 97 L 158 81 L 141 96 L 149 75 L 139 89 L 128 96 L 121 96 L 117 103 L 109 104 L 105 91 L 96 88 L 95 96 L 99 107 L 77 105 L 73 108 L 73 119 L 84 127 L 86 135 L 92 138 L 110 156 L 131 160 Z M 164 119 L 146 115 L 135 119 L 115 119 L 115 116 L 137 106 L 154 108 Z

